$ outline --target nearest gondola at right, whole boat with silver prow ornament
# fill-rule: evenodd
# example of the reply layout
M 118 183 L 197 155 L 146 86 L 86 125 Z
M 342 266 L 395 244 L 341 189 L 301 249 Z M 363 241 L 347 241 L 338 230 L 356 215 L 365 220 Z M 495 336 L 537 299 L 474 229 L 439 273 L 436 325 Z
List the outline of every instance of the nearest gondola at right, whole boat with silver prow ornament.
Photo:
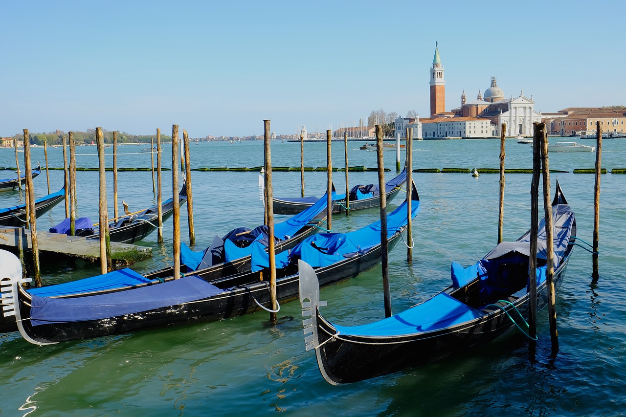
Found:
M 554 219 L 554 282 L 558 291 L 572 254 L 576 220 L 557 182 Z M 545 220 L 539 225 L 537 307 L 546 291 Z M 530 231 L 497 245 L 475 265 L 453 262 L 453 285 L 417 306 L 381 321 L 339 326 L 322 317 L 315 271 L 300 263 L 300 301 L 306 350 L 314 349 L 326 381 L 346 384 L 459 354 L 492 341 L 528 317 Z

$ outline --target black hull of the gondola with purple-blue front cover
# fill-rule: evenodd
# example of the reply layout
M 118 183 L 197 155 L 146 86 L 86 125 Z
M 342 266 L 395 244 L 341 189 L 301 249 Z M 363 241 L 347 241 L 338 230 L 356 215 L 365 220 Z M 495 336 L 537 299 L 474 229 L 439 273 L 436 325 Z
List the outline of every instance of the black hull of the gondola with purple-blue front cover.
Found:
M 400 233 L 397 233 L 389 239 L 390 249 L 398 244 L 399 237 Z M 380 259 L 380 245 L 377 245 L 366 254 L 357 255 L 329 267 L 319 268 L 317 274 L 320 285 L 327 286 L 356 277 L 364 270 L 374 267 L 380 262 Z M 207 277 L 202 274 L 199 276 L 207 280 Z M 220 287 L 236 286 L 237 288 L 199 301 L 176 306 L 163 306 L 124 316 L 39 326 L 31 326 L 30 321 L 25 320 L 21 322 L 21 326 L 23 326 L 23 332 L 28 334 L 28 337 L 33 341 L 54 343 L 178 326 L 193 322 L 216 321 L 261 310 L 254 299 L 265 305 L 270 302 L 269 289 L 264 281 L 260 281 L 260 272 L 249 272 L 239 277 L 228 277 L 225 282 L 217 284 Z M 277 279 L 276 293 L 279 302 L 288 302 L 297 298 L 299 295 L 299 275 L 296 273 Z M 30 316 L 30 307 L 27 302 L 20 292 L 18 307 L 21 317 Z

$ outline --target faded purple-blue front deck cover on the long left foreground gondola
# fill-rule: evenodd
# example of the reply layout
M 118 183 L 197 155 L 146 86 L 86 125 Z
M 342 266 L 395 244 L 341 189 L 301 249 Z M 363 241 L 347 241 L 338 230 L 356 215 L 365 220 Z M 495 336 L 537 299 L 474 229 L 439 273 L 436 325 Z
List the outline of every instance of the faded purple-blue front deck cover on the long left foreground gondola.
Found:
M 100 320 L 177 306 L 220 294 L 223 290 L 196 275 L 141 287 L 132 291 L 112 292 L 98 296 L 48 298 L 33 295 L 31 324 Z

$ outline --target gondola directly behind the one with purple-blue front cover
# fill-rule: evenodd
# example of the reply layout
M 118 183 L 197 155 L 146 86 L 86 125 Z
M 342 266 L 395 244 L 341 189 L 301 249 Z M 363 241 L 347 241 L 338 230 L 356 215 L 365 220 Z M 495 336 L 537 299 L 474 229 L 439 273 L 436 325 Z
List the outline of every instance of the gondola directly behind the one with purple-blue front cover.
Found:
M 291 249 L 302 240 L 316 234 L 324 220 L 326 220 L 326 200 L 322 199 L 309 209 L 275 224 L 274 237 L 277 252 Z M 182 244 L 181 270 L 187 270 L 185 275 L 200 274 L 207 281 L 250 272 L 252 243 L 256 241 L 267 244 L 266 237 L 267 226 L 261 225 L 255 229 L 239 227 L 228 232 L 223 238 L 215 237 L 213 244 L 203 252 L 193 252 Z M 28 292 L 45 297 L 105 294 L 150 285 L 153 281 L 172 281 L 172 274 L 172 267 L 156 270 L 146 275 L 125 268 L 64 284 L 33 288 Z M 8 290 L 5 287 L 3 292 L 6 291 Z M 0 332 L 17 330 L 14 317 L 0 316 Z

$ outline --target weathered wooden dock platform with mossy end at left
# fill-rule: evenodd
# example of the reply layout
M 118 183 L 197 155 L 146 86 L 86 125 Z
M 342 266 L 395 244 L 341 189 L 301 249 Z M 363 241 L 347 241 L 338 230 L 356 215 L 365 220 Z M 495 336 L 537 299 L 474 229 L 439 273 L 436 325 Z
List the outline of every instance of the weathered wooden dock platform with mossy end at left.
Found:
M 100 240 L 98 239 L 50 232 L 38 232 L 37 237 L 41 251 L 79 257 L 91 260 L 91 262 L 100 259 Z M 14 250 L 19 250 L 19 247 L 23 250 L 32 249 L 30 230 L 23 227 L 0 226 L 0 247 L 3 246 Z M 130 265 L 151 256 L 150 247 L 111 242 L 111 259 L 115 263 Z

